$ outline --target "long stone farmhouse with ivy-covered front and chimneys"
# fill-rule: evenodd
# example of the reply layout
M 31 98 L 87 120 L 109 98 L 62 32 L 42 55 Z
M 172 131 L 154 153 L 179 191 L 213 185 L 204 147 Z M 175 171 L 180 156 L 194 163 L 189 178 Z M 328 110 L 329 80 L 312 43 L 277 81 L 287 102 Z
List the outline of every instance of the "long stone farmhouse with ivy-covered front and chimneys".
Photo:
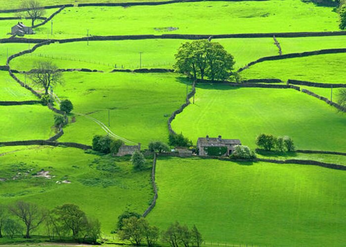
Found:
M 235 146 L 241 145 L 238 139 L 222 139 L 219 135 L 217 138 L 211 138 L 208 135 L 206 137 L 200 137 L 197 140 L 197 150 L 200 156 L 214 155 L 208 154 L 208 149 L 214 149 L 214 152 L 222 150 L 223 153 L 219 153 L 217 156 L 229 156 L 233 153 Z M 217 149 L 218 148 L 218 149 Z

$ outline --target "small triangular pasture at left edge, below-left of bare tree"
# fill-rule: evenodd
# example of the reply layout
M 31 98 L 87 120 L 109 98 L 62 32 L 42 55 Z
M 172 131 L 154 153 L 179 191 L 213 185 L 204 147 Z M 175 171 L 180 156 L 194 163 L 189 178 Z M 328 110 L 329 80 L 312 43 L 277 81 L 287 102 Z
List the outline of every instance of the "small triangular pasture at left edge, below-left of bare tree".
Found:
M 7 71 L 0 71 L 0 101 L 37 100 L 28 89 L 20 86 Z

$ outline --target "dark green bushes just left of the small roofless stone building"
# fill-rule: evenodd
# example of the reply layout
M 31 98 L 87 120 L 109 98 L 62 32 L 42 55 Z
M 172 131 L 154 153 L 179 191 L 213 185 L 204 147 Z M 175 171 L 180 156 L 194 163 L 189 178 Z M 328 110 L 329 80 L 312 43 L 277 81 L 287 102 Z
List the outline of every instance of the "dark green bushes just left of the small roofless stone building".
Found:
M 109 135 L 94 135 L 92 138 L 92 149 L 104 154 L 117 154 L 124 141 L 114 139 Z

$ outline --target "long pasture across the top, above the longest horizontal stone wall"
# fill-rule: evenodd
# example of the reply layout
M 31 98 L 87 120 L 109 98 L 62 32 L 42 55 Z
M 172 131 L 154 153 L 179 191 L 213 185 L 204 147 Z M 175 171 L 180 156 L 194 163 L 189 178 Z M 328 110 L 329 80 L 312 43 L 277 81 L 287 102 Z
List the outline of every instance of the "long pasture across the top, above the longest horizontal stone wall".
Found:
M 95 36 L 339 30 L 338 15 L 332 7 L 300 0 L 206 1 L 127 8 L 72 7 L 54 17 L 53 29 L 51 38 L 54 39 L 84 37 L 87 29 Z M 35 31 L 37 38 L 46 38 L 50 25 Z

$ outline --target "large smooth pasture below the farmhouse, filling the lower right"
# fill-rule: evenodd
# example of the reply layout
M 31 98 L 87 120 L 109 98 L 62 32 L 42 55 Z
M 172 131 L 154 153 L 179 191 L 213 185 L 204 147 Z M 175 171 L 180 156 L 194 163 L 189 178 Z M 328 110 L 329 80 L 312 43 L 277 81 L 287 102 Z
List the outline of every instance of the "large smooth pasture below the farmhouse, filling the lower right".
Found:
M 309 165 L 160 158 L 150 222 L 196 226 L 207 242 L 342 246 L 346 173 Z M 275 233 L 275 234 L 273 234 Z

